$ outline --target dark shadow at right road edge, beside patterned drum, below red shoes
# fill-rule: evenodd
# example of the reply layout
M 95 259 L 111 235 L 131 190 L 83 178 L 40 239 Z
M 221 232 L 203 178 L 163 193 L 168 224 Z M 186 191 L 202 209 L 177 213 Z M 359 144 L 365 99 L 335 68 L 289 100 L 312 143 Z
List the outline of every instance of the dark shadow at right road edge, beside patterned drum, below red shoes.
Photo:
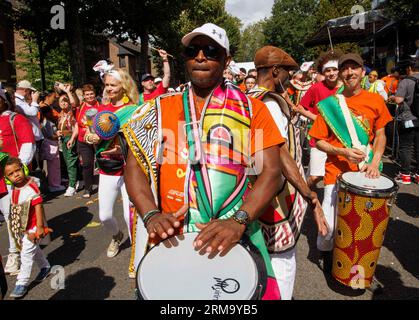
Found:
M 390 219 L 384 244 L 393 252 L 403 268 L 419 279 L 419 228 L 402 220 Z

